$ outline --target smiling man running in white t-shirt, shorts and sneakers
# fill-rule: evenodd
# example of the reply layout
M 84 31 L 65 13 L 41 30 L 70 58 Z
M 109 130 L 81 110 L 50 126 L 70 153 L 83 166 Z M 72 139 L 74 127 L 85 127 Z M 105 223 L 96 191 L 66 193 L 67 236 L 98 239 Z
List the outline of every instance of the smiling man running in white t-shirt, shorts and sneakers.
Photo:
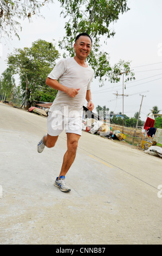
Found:
M 63 192 L 70 191 L 65 182 L 65 175 L 74 162 L 77 144 L 82 134 L 82 110 L 85 99 L 89 111 L 94 108 L 90 92 L 94 71 L 86 63 L 91 47 L 92 39 L 87 33 L 77 35 L 74 44 L 75 57 L 60 60 L 46 80 L 46 84 L 58 90 L 58 93 L 48 112 L 48 133 L 37 144 L 37 151 L 41 153 L 45 146 L 54 147 L 60 133 L 66 130 L 67 151 L 63 157 L 60 174 L 54 183 Z

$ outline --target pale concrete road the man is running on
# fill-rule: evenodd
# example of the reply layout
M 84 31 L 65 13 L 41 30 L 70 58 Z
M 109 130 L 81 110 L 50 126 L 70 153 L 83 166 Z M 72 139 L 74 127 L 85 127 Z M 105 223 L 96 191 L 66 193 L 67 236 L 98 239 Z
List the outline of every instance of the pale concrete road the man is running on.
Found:
M 83 132 L 63 193 L 66 134 L 38 154 L 46 121 L 0 104 L 0 243 L 161 244 L 162 159 Z

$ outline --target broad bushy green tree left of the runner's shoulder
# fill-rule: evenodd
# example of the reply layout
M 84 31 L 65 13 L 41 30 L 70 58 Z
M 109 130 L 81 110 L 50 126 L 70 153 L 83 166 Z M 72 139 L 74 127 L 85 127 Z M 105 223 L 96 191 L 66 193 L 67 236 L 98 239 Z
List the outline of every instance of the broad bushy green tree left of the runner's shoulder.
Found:
M 57 91 L 45 84 L 60 54 L 51 42 L 37 40 L 30 48 L 18 48 L 8 57 L 9 68 L 19 74 L 21 90 L 25 95 L 27 82 L 27 108 L 33 101 L 53 101 Z

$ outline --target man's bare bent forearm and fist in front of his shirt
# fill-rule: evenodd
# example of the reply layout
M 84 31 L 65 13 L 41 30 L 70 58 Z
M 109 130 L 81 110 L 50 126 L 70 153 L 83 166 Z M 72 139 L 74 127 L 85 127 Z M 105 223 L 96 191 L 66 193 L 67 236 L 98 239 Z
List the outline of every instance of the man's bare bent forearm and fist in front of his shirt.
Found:
M 61 90 L 62 92 L 69 95 L 70 97 L 75 97 L 80 90 L 80 89 L 68 88 L 66 86 L 63 86 L 57 80 L 51 79 L 49 77 L 47 77 L 46 84 L 47 84 L 47 86 L 50 86 L 53 89 Z

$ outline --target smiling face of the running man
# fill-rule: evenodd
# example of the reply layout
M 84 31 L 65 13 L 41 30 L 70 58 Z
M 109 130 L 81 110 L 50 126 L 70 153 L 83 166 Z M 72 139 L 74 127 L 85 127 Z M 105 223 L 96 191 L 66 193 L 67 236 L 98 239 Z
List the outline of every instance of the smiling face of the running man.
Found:
M 92 46 L 91 40 L 88 36 L 81 35 L 79 39 L 76 40 L 74 44 L 74 50 L 77 58 L 84 60 L 90 53 L 90 48 Z

